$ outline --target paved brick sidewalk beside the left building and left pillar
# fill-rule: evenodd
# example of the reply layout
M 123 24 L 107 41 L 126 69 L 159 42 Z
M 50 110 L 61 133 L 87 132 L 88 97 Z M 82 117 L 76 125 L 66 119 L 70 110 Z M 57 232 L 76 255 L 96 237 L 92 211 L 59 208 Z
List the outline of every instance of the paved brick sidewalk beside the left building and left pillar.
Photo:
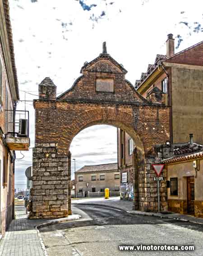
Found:
M 15 206 L 16 219 L 12 220 L 0 242 L 0 256 L 44 256 L 36 225 L 44 220 L 29 220 L 25 207 Z

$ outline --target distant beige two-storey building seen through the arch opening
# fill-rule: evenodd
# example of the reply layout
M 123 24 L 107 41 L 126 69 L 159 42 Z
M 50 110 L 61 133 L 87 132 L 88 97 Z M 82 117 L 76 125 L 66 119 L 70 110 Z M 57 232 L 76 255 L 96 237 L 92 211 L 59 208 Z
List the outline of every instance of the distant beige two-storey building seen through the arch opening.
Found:
M 76 172 L 76 193 L 104 192 L 120 190 L 120 173 L 117 163 L 85 165 Z

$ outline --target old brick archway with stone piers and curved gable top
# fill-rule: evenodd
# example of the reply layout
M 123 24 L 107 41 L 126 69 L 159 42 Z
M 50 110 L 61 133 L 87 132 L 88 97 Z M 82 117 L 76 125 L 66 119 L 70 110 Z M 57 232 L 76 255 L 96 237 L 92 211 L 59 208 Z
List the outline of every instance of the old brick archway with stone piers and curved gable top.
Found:
M 125 79 L 123 66 L 106 51 L 85 62 L 81 73 L 59 97 L 50 78 L 39 84 L 39 99 L 34 100 L 36 130 L 29 217 L 68 216 L 69 146 L 75 135 L 95 124 L 120 127 L 133 138 L 134 208 L 156 209 L 156 200 L 149 199 L 154 182 L 148 155 L 155 144 L 169 140 L 169 107 L 164 104 L 164 95 L 148 102 Z

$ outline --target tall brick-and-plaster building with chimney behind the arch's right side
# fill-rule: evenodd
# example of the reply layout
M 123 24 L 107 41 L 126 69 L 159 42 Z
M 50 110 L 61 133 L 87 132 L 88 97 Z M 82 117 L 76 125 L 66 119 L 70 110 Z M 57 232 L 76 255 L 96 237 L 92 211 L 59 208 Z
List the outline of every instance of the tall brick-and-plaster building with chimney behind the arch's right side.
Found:
M 166 55 L 157 54 L 154 64 L 136 80 L 135 88 L 150 102 L 165 102 L 170 107 L 170 140 L 172 145 L 186 143 L 188 134 L 194 141 L 203 144 L 203 42 L 175 53 L 173 35 L 166 41 Z M 157 112 L 157 122 L 159 121 Z M 131 137 L 118 129 L 118 163 L 120 172 L 127 172 L 127 183 L 131 186 L 134 175 Z M 130 154 L 132 153 L 132 154 Z M 156 152 L 151 152 L 152 157 Z M 122 185 L 121 179 L 121 185 Z

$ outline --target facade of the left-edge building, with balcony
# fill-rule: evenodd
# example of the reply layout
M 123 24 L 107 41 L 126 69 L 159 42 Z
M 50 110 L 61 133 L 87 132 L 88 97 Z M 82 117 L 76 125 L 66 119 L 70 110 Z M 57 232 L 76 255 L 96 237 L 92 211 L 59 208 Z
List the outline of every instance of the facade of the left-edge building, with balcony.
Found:
M 29 138 L 16 132 L 19 100 L 8 0 L 0 1 L 0 235 L 14 219 L 14 150 L 28 150 Z M 24 137 L 24 138 L 23 138 Z

